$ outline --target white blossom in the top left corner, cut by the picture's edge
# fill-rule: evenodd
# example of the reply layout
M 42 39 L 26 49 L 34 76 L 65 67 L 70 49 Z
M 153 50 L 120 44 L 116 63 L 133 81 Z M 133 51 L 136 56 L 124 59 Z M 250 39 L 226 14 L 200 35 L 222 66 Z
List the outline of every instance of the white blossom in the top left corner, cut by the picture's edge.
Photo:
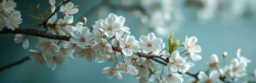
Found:
M 14 8 L 17 5 L 16 2 L 14 2 L 13 0 L 3 0 L 3 2 L 0 4 L 2 4 L 3 10 L 7 14 L 10 14 L 11 12 L 13 12 Z

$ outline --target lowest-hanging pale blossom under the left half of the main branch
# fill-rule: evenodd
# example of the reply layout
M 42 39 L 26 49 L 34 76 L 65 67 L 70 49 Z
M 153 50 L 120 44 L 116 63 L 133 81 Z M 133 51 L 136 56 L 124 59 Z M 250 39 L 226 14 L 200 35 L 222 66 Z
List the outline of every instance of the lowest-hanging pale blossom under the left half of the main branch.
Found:
M 55 70 L 58 64 L 66 64 L 68 60 L 67 56 L 62 54 L 62 52 L 58 52 L 53 56 L 47 57 L 47 65 L 52 70 Z

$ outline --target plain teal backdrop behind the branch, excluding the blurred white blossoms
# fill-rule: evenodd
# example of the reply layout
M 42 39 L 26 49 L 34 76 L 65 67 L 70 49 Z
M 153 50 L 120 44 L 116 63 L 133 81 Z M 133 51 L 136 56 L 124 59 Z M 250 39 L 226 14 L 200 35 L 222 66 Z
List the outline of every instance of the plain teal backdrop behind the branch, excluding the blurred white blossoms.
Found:
M 58 5 L 62 0 L 58 0 Z M 17 3 L 16 10 L 21 11 L 23 23 L 20 28 L 26 28 L 41 23 L 34 20 L 29 15 L 35 15 L 31 10 L 30 5 L 36 5 L 41 2 L 40 10 L 46 10 L 48 0 L 15 0 Z M 79 12 L 74 15 L 74 22 L 82 21 L 81 17 L 91 7 L 97 5 L 101 0 L 72 0 L 75 5 L 79 5 Z M 133 14 L 120 11 L 110 10 L 116 15 L 122 15 L 126 18 L 125 24 L 130 27 L 130 31 L 138 40 L 140 35 L 147 35 L 149 32 L 140 30 L 140 19 L 134 17 Z M 212 20 L 206 22 L 195 21 L 191 10 L 182 8 L 184 13 L 184 20 L 180 28 L 175 31 L 175 38 L 179 38 L 180 42 L 185 41 L 186 35 L 188 37 L 197 36 L 198 42 L 202 47 L 201 61 L 195 62 L 195 67 L 191 68 L 192 73 L 199 70 L 207 70 L 206 62 L 210 60 L 211 54 L 217 54 L 219 61 L 222 62 L 223 51 L 228 52 L 226 64 L 233 58 L 236 58 L 236 51 L 241 48 L 242 56 L 251 59 L 248 63 L 248 72 L 253 73 L 256 61 L 256 18 L 233 18 L 233 20 L 223 21 L 217 16 Z M 59 15 L 61 13 L 58 13 Z M 107 15 L 104 15 L 107 17 Z M 87 26 L 90 27 L 94 22 L 100 18 L 94 17 L 93 13 L 87 17 Z M 170 31 L 171 34 L 172 31 Z M 28 50 L 22 48 L 22 44 L 16 44 L 14 41 L 15 34 L 1 34 L 0 35 L 0 66 L 5 66 L 8 63 L 18 61 L 19 59 L 28 56 Z M 160 35 L 156 34 L 157 37 Z M 167 36 L 162 38 L 167 43 Z M 37 49 L 34 45 L 38 42 L 37 37 L 28 37 L 30 42 L 29 49 Z M 179 48 L 179 51 L 183 51 Z M 66 65 L 58 65 L 52 71 L 46 65 L 40 68 L 36 65 L 36 61 L 29 60 L 21 65 L 14 66 L 3 72 L 0 72 L 0 83 L 137 83 L 139 80 L 134 76 L 123 74 L 123 79 L 118 80 L 117 77 L 112 79 L 106 78 L 106 74 L 101 73 L 101 69 L 107 66 L 112 66 L 111 62 L 106 63 L 88 63 L 85 59 L 70 59 Z M 222 65 L 220 65 L 222 66 Z M 184 76 L 185 81 L 188 76 Z

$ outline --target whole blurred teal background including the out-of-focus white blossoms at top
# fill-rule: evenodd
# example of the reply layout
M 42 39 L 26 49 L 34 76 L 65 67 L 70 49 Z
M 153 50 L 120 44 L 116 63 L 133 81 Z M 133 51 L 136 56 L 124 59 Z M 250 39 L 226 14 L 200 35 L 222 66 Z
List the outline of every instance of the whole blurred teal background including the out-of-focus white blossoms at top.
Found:
M 28 15 L 36 15 L 30 5 L 41 3 L 39 10 L 47 10 L 48 0 L 14 0 L 16 10 L 21 11 L 23 23 L 20 28 L 26 28 L 41 23 Z M 62 0 L 56 0 L 56 6 Z M 188 37 L 197 36 L 202 47 L 201 61 L 195 61 L 191 73 L 207 70 L 207 61 L 211 54 L 217 54 L 222 62 L 223 51 L 228 52 L 226 64 L 236 58 L 238 48 L 241 54 L 252 62 L 247 70 L 253 73 L 256 64 L 256 0 L 71 0 L 78 5 L 79 12 L 74 16 L 74 22 L 81 22 L 87 17 L 87 27 L 104 19 L 110 12 L 125 17 L 125 23 L 132 35 L 139 40 L 141 35 L 154 32 L 167 43 L 168 35 L 175 31 L 175 38 L 184 42 Z M 61 14 L 58 12 L 57 14 Z M 43 30 L 43 29 L 42 29 Z M 15 34 L 0 36 L 0 66 L 18 61 L 28 56 L 21 44 L 14 41 Z M 36 49 L 37 37 L 28 37 L 29 49 Z M 184 48 L 179 48 L 183 51 Z M 106 63 L 88 63 L 85 59 L 70 59 L 66 65 L 58 65 L 52 71 L 46 65 L 39 67 L 36 61 L 28 60 L 0 72 L 0 83 L 138 83 L 134 76 L 123 74 L 123 79 L 106 78 L 101 69 L 111 66 Z M 220 65 L 222 66 L 222 65 Z M 184 76 L 185 82 L 189 76 Z

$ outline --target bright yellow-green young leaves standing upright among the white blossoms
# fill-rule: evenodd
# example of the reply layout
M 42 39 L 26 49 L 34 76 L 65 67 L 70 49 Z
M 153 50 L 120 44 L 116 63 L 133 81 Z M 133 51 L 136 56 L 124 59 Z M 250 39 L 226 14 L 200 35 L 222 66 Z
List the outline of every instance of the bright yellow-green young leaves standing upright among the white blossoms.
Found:
M 168 46 L 169 46 L 169 53 L 172 54 L 173 51 L 177 49 L 179 46 L 179 40 L 174 40 L 174 32 L 172 33 L 171 37 L 168 37 Z

